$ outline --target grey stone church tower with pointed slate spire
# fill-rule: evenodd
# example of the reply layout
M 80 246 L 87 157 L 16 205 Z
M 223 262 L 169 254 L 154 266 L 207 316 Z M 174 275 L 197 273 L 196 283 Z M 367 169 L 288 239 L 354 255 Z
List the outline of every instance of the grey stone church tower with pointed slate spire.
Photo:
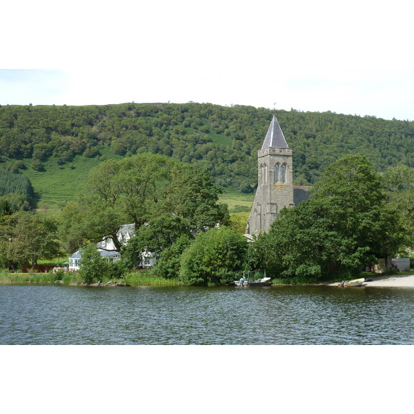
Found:
M 295 206 L 292 148 L 288 147 L 275 115 L 257 154 L 257 166 L 257 190 L 247 222 L 249 235 L 266 233 L 282 208 Z

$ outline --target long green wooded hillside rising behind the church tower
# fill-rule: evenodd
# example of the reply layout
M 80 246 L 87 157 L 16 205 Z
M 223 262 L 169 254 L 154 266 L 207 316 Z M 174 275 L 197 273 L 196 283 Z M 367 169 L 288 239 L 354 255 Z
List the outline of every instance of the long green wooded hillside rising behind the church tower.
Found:
M 293 147 L 296 185 L 314 184 L 346 154 L 366 155 L 378 170 L 414 167 L 413 121 L 211 103 L 124 103 L 1 106 L 0 168 L 21 170 L 32 182 L 37 208 L 56 213 L 105 157 L 155 152 L 210 170 L 237 210 L 253 199 L 257 150 L 273 114 Z

